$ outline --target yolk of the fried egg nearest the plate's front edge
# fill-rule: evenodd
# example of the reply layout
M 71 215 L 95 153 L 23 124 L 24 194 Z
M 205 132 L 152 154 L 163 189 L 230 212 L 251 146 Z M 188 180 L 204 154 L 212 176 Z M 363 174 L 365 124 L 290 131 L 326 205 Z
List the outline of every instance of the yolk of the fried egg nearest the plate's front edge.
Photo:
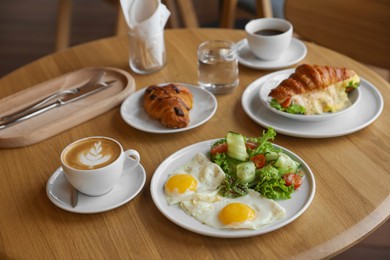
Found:
M 242 203 L 231 203 L 225 206 L 218 215 L 219 220 L 224 225 L 254 220 L 255 217 L 256 212 L 248 205 Z

